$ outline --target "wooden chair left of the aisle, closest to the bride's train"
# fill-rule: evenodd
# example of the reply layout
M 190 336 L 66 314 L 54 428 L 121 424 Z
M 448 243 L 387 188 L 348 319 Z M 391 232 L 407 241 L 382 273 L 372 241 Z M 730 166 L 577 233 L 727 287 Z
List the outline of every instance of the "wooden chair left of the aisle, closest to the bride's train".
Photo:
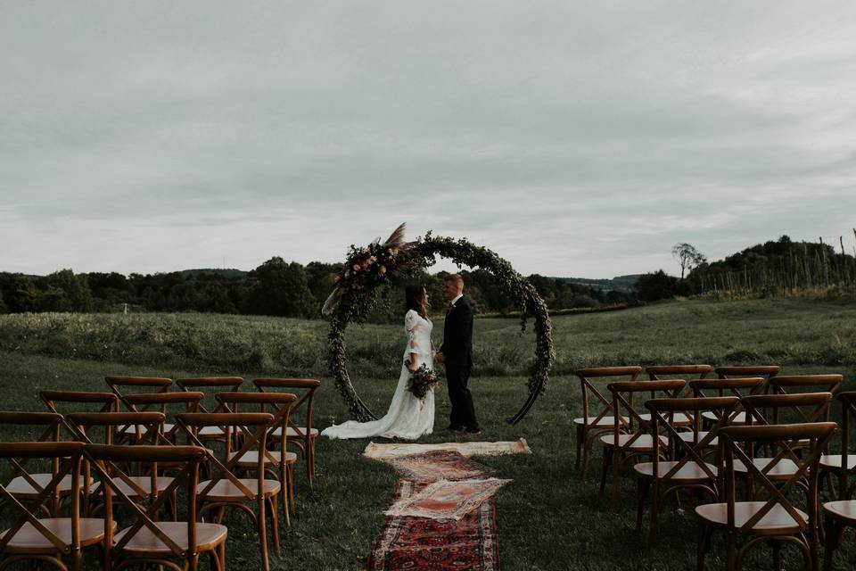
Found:
M 260 393 L 284 391 L 297 394 L 297 401 L 291 405 L 288 442 L 296 446 L 303 456 L 303 461 L 306 462 L 306 478 L 311 486 L 315 478 L 315 443 L 319 434 L 318 429 L 312 426 L 312 408 L 315 392 L 321 386 L 321 381 L 314 378 L 257 378 L 253 379 L 252 383 Z M 299 423 L 295 413 L 300 414 L 301 411 L 303 422 Z M 271 436 L 278 438 L 280 430 L 277 427 Z

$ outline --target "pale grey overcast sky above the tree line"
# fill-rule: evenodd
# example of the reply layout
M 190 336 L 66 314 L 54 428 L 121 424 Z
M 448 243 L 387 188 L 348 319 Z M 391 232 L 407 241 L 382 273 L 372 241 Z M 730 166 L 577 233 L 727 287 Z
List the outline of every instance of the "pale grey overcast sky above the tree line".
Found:
M 0 0 L 0 270 L 523 274 L 856 227 L 856 3 Z

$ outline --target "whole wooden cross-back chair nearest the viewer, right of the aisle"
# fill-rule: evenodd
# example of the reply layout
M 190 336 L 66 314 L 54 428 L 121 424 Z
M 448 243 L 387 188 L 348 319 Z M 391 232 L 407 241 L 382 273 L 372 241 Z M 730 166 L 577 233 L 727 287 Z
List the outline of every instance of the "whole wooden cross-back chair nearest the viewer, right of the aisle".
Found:
M 724 493 L 719 503 L 695 508 L 701 521 L 697 568 L 704 568 L 704 556 L 710 549 L 713 531 L 722 530 L 726 535 L 728 571 L 741 568 L 745 554 L 762 542 L 772 543 L 773 568 L 781 567 L 782 544 L 791 543 L 801 551 L 806 569 L 818 569 L 818 466 L 820 455 L 834 432 L 834 422 L 722 428 L 720 455 L 725 465 L 720 473 L 720 488 Z M 808 440 L 811 445 L 805 458 L 800 459 L 797 471 L 786 481 L 770 480 L 767 473 L 753 466 L 751 453 L 747 452 L 757 446 L 798 440 Z M 735 476 L 738 463 L 749 467 L 746 476 L 764 492 L 762 498 L 750 493 L 747 500 L 737 501 Z M 803 510 L 797 508 L 788 493 L 804 482 L 808 483 L 808 493 L 804 496 Z M 748 541 L 738 550 L 737 541 L 744 537 Z

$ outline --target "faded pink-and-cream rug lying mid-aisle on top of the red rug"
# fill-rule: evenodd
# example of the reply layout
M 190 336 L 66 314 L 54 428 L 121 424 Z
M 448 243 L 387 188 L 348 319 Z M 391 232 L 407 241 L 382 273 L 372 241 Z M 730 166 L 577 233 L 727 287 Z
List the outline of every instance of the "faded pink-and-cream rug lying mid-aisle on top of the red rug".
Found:
M 397 517 L 426 517 L 439 521 L 460 519 L 484 501 L 492 498 L 497 490 L 511 480 L 488 478 L 486 480 L 441 480 L 428 484 L 420 492 L 402 498 L 383 513 Z

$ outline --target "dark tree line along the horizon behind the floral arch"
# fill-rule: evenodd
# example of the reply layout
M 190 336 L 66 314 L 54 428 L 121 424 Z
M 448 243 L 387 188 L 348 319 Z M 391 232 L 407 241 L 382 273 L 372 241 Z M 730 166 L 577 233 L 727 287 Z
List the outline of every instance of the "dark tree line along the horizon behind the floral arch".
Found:
M 61 269 L 47 276 L 0 272 L 0 313 L 37 311 L 199 311 L 293 318 L 320 318 L 320 308 L 333 290 L 339 264 L 313 261 L 306 266 L 274 257 L 249 272 L 196 269 L 128 276 L 117 272 L 75 273 Z M 422 283 L 435 311 L 445 303 L 445 272 L 407 277 L 381 296 L 371 320 L 398 320 L 406 283 Z M 514 310 L 484 270 L 464 271 L 466 294 L 481 313 Z M 530 276 L 550 309 L 598 307 L 635 301 L 635 295 L 606 292 L 562 278 Z

